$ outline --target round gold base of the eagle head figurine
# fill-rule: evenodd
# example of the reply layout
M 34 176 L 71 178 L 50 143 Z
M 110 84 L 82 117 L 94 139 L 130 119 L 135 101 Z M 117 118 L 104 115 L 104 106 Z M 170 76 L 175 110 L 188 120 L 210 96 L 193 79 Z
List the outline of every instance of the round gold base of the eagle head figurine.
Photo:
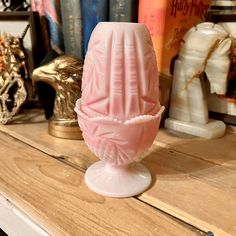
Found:
M 57 138 L 83 139 L 77 120 L 50 120 L 48 133 Z

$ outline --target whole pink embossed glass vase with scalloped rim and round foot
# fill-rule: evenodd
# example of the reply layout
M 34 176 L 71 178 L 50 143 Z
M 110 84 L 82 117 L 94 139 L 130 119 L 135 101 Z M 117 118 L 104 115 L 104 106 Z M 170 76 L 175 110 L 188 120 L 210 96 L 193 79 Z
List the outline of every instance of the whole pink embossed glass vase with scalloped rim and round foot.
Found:
M 101 22 L 90 38 L 75 111 L 84 141 L 101 161 L 85 173 L 110 197 L 142 193 L 151 183 L 141 155 L 156 137 L 161 113 L 156 57 L 144 24 Z

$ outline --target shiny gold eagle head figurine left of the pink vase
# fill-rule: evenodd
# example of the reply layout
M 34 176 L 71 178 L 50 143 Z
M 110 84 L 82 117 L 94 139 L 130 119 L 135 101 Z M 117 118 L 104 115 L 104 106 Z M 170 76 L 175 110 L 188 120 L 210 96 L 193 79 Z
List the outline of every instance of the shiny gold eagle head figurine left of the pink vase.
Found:
M 56 91 L 49 134 L 68 139 L 82 139 L 74 111 L 80 97 L 83 61 L 64 55 L 33 71 L 33 84 L 45 82 Z

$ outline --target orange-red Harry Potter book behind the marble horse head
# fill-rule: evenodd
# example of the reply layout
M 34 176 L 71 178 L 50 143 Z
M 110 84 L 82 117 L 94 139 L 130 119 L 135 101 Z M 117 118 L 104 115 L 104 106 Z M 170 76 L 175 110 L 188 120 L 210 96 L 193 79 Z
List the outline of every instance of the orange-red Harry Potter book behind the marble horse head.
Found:
M 205 20 L 210 3 L 211 0 L 139 0 L 138 21 L 149 29 L 160 73 L 171 76 L 171 65 L 184 34 Z

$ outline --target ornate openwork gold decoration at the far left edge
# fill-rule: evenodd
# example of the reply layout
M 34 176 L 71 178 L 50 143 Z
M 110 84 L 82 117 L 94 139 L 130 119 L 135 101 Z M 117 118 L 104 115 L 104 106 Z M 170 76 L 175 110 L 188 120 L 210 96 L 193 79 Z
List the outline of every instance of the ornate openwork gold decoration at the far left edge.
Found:
M 0 123 L 6 124 L 19 111 L 27 92 L 28 76 L 22 40 L 9 34 L 0 36 Z

